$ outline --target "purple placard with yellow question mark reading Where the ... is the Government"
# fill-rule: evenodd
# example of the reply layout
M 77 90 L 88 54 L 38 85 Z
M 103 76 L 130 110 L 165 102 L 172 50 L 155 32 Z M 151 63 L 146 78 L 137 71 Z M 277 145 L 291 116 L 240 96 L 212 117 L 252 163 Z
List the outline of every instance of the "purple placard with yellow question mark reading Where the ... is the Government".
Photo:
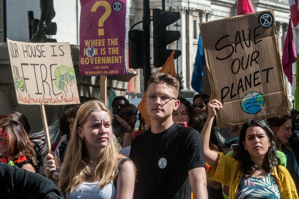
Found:
M 80 75 L 125 74 L 126 0 L 80 2 Z

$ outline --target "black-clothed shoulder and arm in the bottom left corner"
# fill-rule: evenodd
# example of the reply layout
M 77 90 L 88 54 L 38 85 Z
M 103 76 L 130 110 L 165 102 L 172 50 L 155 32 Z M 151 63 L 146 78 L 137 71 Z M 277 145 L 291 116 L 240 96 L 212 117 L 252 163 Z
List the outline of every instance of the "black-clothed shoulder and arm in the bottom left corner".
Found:
M 1 198 L 63 199 L 54 183 L 40 174 L 0 163 Z

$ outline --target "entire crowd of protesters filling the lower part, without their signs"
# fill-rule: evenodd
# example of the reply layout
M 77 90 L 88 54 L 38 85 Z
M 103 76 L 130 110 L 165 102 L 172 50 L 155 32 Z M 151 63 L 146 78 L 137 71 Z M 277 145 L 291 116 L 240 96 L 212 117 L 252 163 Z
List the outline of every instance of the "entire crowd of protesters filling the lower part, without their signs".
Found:
M 28 138 L 26 117 L 18 112 L 4 117 L 1 194 L 68 199 L 298 198 L 296 110 L 218 128 L 215 116 L 223 104 L 203 93 L 190 103 L 179 97 L 176 78 L 164 73 L 149 78 L 144 103 L 150 121 L 123 96 L 114 98 L 112 111 L 95 98 L 68 107 L 61 114 L 60 141 L 43 160 L 38 144 Z M 45 177 L 34 174 L 41 165 Z

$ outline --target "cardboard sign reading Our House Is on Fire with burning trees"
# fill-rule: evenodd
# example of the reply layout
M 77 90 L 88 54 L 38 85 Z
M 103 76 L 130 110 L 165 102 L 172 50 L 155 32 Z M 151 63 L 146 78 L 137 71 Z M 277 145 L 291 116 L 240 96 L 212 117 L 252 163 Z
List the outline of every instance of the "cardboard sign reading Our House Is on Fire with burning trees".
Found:
M 7 39 L 19 104 L 77 104 L 79 95 L 69 43 Z

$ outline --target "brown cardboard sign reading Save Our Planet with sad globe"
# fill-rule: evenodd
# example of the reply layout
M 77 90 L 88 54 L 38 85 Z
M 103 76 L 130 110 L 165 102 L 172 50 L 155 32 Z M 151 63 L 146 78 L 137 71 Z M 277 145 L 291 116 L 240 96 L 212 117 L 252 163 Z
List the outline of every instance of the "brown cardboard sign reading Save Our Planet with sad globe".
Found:
M 273 9 L 199 28 L 219 127 L 289 112 Z

